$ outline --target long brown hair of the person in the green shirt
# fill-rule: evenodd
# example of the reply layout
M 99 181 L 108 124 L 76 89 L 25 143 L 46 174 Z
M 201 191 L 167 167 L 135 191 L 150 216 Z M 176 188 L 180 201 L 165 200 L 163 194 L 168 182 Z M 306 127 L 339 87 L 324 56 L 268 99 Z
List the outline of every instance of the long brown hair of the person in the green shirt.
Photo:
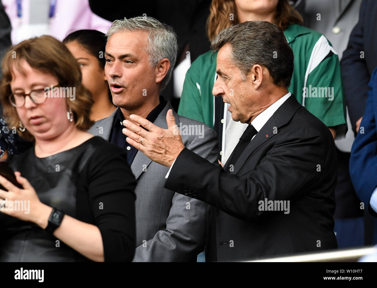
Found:
M 230 20 L 230 14 L 233 14 L 233 20 Z M 273 23 L 285 30 L 288 25 L 302 25 L 303 19 L 300 13 L 289 4 L 288 0 L 279 0 L 276 6 Z M 212 0 L 210 15 L 207 19 L 207 34 L 210 41 L 212 41 L 222 29 L 237 24 L 239 24 L 239 22 L 236 2 L 234 2 L 234 0 Z

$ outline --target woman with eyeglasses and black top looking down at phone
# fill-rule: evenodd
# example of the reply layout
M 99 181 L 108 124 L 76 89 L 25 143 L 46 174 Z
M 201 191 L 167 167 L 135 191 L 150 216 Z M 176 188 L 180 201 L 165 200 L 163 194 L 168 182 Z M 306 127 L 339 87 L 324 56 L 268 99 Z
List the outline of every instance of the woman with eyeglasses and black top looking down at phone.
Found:
M 135 178 L 126 153 L 86 132 L 93 101 L 51 36 L 10 48 L 0 96 L 9 129 L 35 141 L 0 176 L 0 261 L 131 261 Z

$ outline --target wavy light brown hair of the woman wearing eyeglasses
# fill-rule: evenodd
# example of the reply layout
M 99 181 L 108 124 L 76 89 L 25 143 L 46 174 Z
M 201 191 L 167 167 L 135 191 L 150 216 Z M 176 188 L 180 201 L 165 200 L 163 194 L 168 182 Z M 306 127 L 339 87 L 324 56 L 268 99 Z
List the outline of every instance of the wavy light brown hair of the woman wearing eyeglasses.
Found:
M 81 70 L 77 61 L 63 43 L 54 37 L 44 35 L 12 46 L 3 58 L 0 98 L 9 128 L 20 127 L 17 110 L 9 102 L 8 96 L 12 93 L 10 83 L 13 66 L 18 66 L 21 59 L 25 59 L 32 68 L 55 76 L 59 85 L 75 87 L 75 100 L 66 98 L 67 106 L 74 114 L 75 126 L 86 131 L 93 125 L 89 118 L 93 99 L 90 91 L 81 84 Z M 27 130 L 18 130 L 18 133 L 27 140 L 34 140 L 34 136 Z

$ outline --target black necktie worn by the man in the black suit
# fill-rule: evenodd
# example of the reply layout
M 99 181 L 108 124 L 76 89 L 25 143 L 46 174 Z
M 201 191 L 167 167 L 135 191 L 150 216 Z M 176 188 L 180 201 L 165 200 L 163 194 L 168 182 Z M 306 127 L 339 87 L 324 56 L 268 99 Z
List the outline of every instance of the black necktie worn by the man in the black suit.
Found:
M 250 143 L 254 135 L 256 135 L 257 130 L 253 125 L 248 125 L 245 132 L 239 138 L 236 148 L 234 148 L 232 154 L 230 155 L 229 167 L 226 167 L 225 171 L 230 173 L 230 168 L 234 167 L 234 164 L 238 160 L 239 156 L 245 150 L 246 146 Z M 233 165 L 233 166 L 232 166 Z M 216 243 L 216 207 L 213 207 L 213 213 L 211 218 L 211 229 L 210 229 L 210 239 L 208 247 L 208 255 L 205 255 L 207 262 L 217 261 L 217 243 Z

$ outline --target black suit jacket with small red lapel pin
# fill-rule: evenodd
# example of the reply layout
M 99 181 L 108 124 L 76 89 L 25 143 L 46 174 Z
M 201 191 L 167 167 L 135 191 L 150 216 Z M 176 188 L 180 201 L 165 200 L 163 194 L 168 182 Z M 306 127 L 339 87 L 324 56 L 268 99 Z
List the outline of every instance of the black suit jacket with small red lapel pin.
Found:
M 234 172 L 185 148 L 165 187 L 218 208 L 218 261 L 231 261 L 337 248 L 336 180 L 331 133 L 291 96 L 250 141 Z M 260 211 L 265 198 L 289 200 L 289 214 Z

